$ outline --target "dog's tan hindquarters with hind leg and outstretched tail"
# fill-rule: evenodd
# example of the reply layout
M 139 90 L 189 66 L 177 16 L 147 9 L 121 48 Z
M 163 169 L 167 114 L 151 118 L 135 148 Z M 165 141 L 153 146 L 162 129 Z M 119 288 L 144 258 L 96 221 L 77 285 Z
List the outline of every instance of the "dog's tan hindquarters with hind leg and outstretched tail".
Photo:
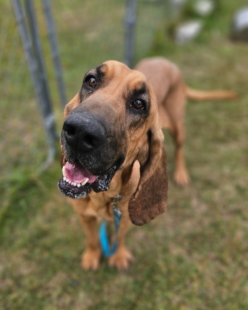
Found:
M 179 68 L 162 57 L 141 60 L 135 67 L 142 72 L 152 85 L 157 97 L 159 122 L 168 128 L 175 141 L 174 179 L 179 185 L 189 182 L 184 162 L 184 114 L 187 97 L 193 100 L 237 99 L 231 91 L 197 91 L 185 85 Z

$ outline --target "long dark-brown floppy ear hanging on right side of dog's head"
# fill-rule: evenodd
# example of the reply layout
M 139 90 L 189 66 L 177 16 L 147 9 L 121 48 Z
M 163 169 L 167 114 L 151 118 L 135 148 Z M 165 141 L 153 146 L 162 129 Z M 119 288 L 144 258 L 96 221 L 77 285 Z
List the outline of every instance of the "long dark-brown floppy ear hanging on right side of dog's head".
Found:
M 162 130 L 153 127 L 148 135 L 148 160 L 143 169 L 140 168 L 138 188 L 128 205 L 131 222 L 139 226 L 155 219 L 167 208 L 168 177 Z

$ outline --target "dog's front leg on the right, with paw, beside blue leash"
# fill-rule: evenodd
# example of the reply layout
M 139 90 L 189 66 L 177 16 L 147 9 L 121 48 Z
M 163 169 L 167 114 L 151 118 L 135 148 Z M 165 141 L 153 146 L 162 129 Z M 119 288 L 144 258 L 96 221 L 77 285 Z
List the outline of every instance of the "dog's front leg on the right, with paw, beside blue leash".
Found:
M 121 206 L 120 203 L 120 210 L 122 212 L 122 219 L 120 222 L 120 228 L 118 231 L 118 247 L 117 251 L 114 255 L 112 255 L 109 260 L 108 264 L 111 267 L 116 267 L 118 270 L 127 269 L 131 260 L 133 260 L 133 256 L 131 253 L 126 249 L 124 245 L 124 237 L 126 232 L 131 224 L 129 214 L 128 214 L 128 203 L 124 206 Z

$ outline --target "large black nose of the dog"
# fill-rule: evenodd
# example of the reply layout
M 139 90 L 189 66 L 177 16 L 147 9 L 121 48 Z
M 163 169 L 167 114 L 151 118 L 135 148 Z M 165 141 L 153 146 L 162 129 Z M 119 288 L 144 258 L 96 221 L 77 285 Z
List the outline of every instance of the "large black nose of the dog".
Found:
M 85 112 L 69 115 L 63 125 L 66 142 L 81 153 L 99 148 L 105 141 L 106 130 L 99 117 Z

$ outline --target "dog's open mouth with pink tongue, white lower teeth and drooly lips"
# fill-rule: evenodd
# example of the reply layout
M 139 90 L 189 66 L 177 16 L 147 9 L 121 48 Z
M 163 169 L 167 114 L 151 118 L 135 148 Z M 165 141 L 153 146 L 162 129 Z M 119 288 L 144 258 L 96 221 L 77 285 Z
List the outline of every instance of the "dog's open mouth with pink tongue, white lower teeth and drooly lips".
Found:
M 115 171 L 116 166 L 113 166 L 105 175 L 92 175 L 80 163 L 66 162 L 58 187 L 65 196 L 73 199 L 84 198 L 91 190 L 96 193 L 107 191 Z

